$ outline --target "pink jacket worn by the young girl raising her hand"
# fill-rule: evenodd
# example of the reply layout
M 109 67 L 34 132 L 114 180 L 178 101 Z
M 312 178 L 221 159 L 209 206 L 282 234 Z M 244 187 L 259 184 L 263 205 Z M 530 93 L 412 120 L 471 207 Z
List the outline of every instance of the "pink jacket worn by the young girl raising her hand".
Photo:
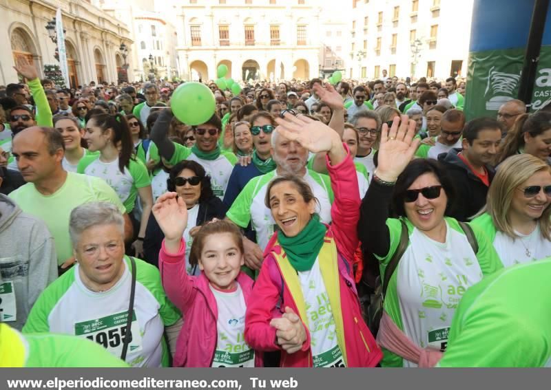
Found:
M 178 335 L 174 367 L 211 367 L 218 341 L 218 308 L 205 274 L 189 276 L 185 271 L 185 242 L 177 254 L 168 254 L 165 241 L 159 252 L 159 270 L 168 298 L 183 314 L 184 326 Z M 253 281 L 240 272 L 237 281 L 245 304 L 251 302 Z M 262 367 L 262 353 L 255 351 L 255 366 Z

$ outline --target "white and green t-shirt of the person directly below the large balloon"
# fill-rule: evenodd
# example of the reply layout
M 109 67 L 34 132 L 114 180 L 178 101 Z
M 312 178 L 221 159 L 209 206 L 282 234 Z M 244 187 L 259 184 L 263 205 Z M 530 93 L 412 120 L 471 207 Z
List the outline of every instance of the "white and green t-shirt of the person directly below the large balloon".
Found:
M 233 166 L 238 160 L 236 155 L 232 152 L 222 150 L 216 160 L 205 160 L 195 155 L 191 151 L 191 148 L 180 144 L 174 144 L 174 147 L 176 149 L 169 160 L 169 164 L 176 165 L 182 160 L 198 162 L 205 168 L 207 174 L 211 176 L 211 186 L 214 195 L 219 197 L 220 200 L 224 199 L 231 171 L 233 171 Z

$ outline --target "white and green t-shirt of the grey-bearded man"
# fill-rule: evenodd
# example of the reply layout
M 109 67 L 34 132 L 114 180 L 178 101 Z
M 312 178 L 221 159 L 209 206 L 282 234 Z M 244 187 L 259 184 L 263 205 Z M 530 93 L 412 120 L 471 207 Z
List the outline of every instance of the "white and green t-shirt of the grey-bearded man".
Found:
M 253 177 L 226 213 L 226 216 L 234 224 L 242 228 L 247 228 L 251 222 L 253 230 L 256 231 L 256 242 L 262 250 L 266 248 L 273 232 L 277 229 L 270 209 L 264 204 L 268 184 L 275 176 L 274 170 L 265 175 Z M 320 215 L 320 220 L 329 224 L 331 222 L 331 204 L 333 204 L 333 191 L 329 176 L 308 170 L 302 179 L 310 185 L 315 198 L 318 199 L 320 206 L 316 210 Z

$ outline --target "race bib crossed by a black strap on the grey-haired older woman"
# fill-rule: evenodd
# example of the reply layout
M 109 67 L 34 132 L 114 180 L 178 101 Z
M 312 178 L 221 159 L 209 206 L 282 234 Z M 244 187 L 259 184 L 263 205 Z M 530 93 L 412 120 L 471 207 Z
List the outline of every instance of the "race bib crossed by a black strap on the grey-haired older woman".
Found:
M 121 356 L 126 336 L 126 321 L 128 312 L 121 312 L 83 321 L 74 324 L 75 336 L 85 337 L 107 348 L 114 356 Z M 141 351 L 142 336 L 140 326 L 136 320 L 136 312 L 132 312 L 132 326 L 130 327 L 130 343 L 128 353 Z

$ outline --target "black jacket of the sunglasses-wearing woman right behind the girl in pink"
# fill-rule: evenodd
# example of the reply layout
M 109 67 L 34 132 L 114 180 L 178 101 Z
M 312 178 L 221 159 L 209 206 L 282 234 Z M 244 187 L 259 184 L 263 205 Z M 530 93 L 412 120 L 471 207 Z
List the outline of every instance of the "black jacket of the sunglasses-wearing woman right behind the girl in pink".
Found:
M 203 202 L 199 202 L 199 212 L 197 214 L 196 226 L 202 225 L 213 218 L 223 219 L 226 215 L 227 207 L 218 197 L 213 196 Z M 157 220 L 153 213 L 149 215 L 147 228 L 145 229 L 145 238 L 143 239 L 143 252 L 145 261 L 158 268 L 160 246 L 165 239 L 163 230 L 160 230 Z

